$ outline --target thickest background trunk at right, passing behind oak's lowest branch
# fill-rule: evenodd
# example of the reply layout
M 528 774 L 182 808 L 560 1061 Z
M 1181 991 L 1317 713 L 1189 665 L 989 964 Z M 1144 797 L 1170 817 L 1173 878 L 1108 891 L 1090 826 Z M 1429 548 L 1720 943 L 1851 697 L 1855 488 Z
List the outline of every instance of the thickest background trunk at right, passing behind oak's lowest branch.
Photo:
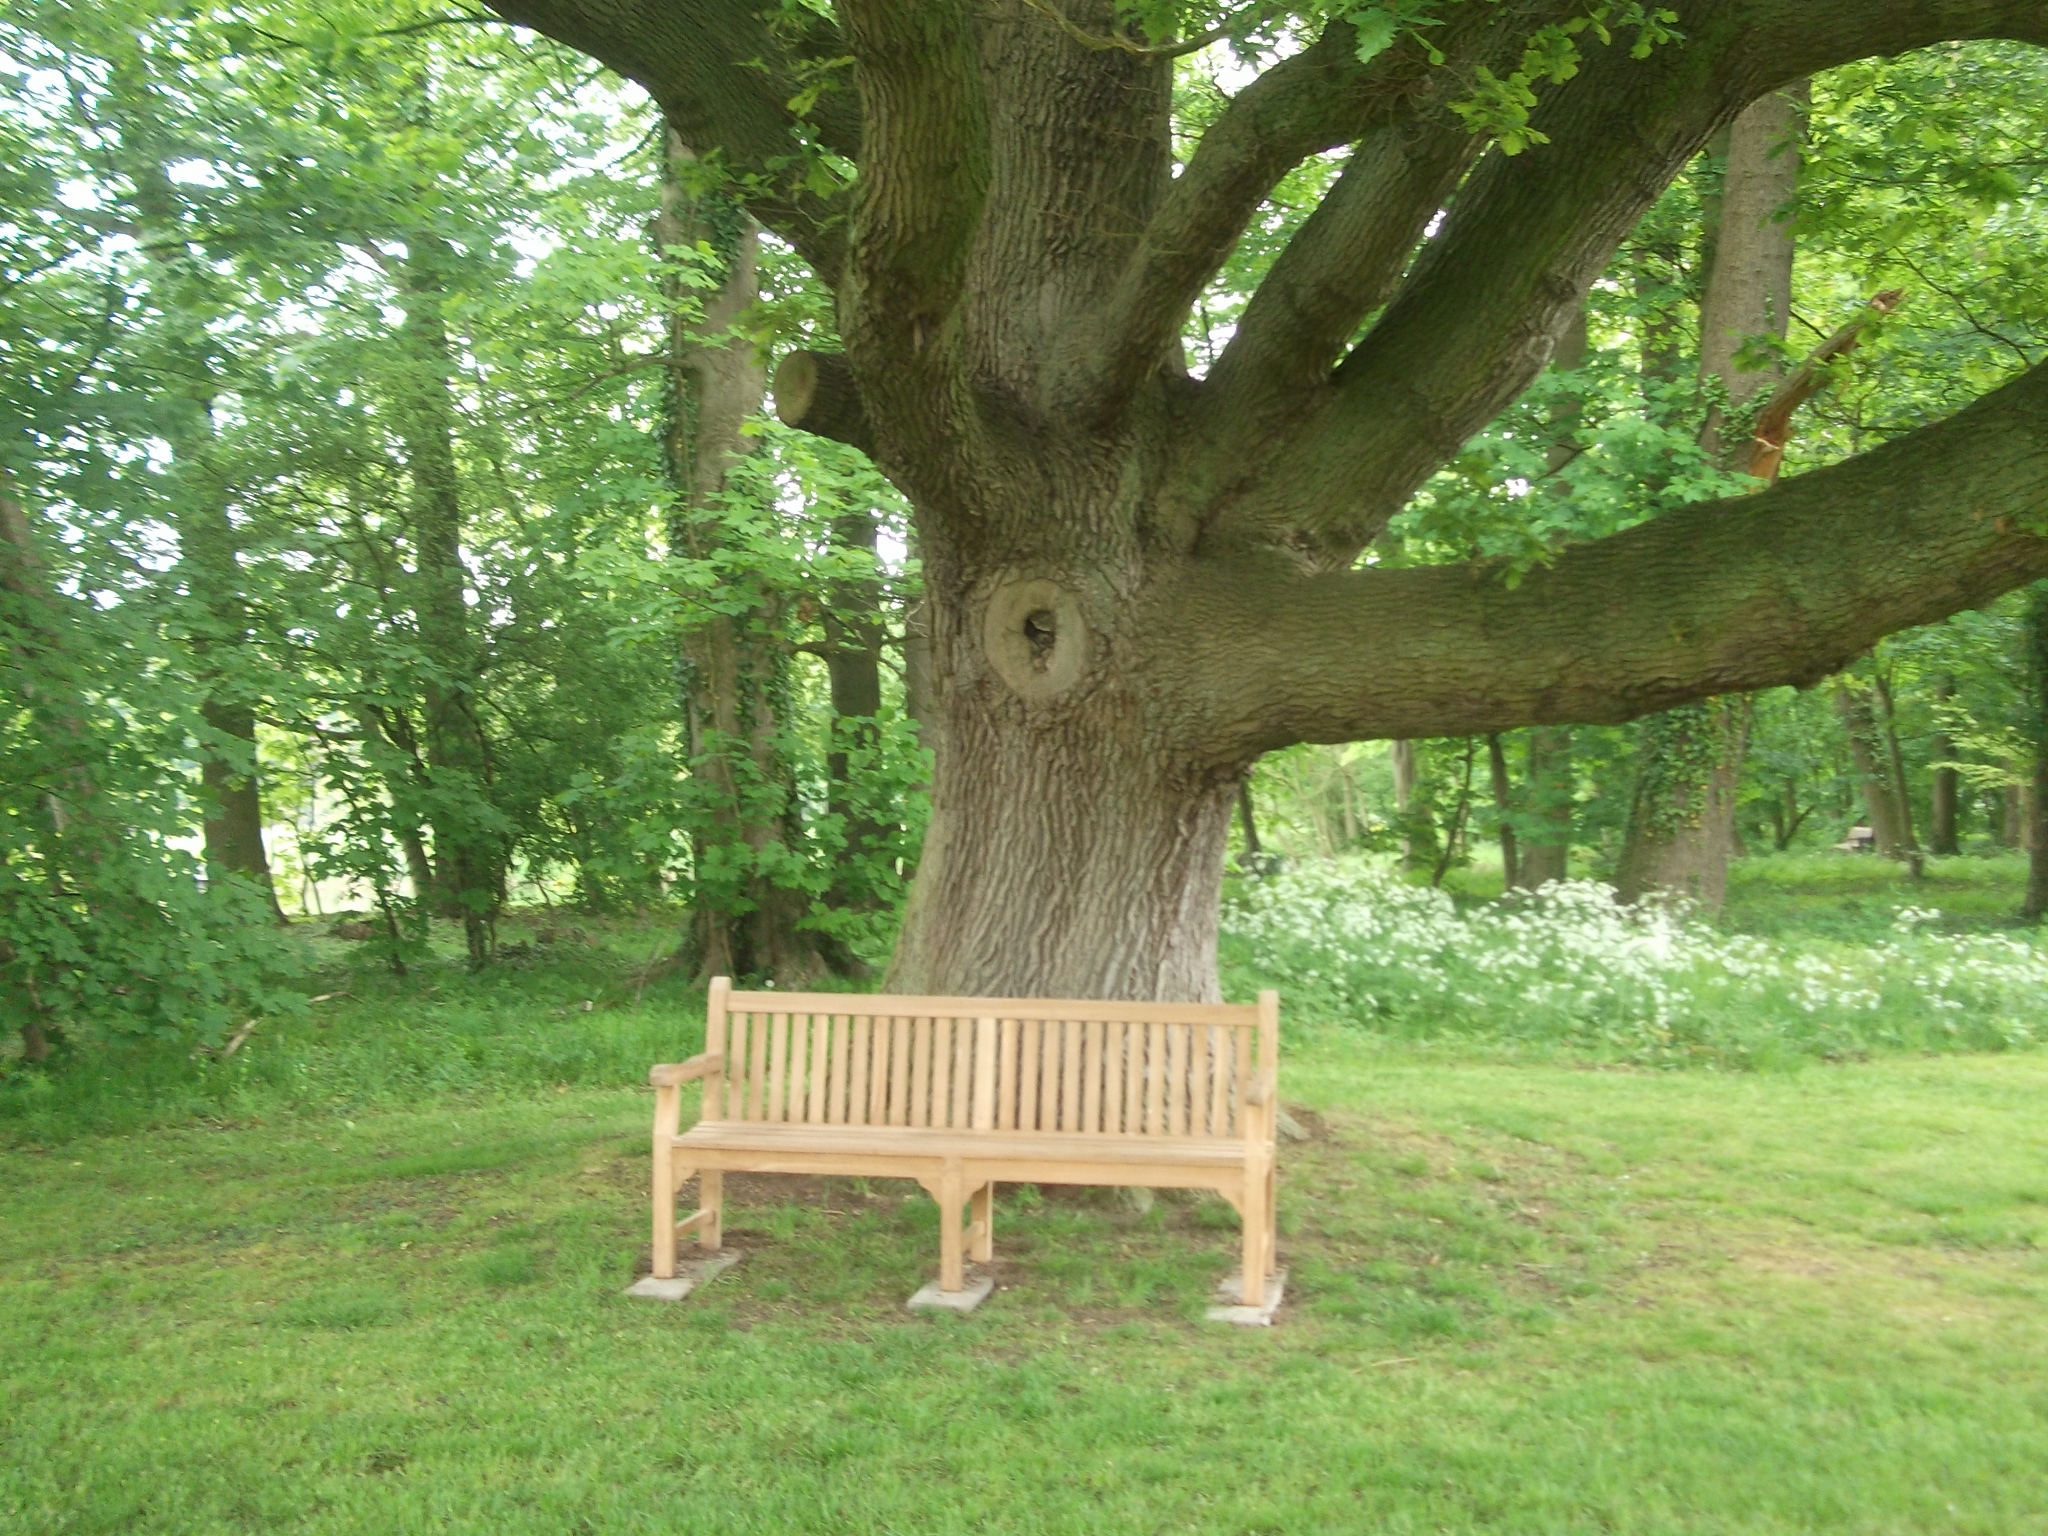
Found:
M 1737 424 L 1743 408 L 1780 375 L 1745 369 L 1737 356 L 1757 336 L 1784 340 L 1792 311 L 1792 223 L 1798 195 L 1798 139 L 1804 86 L 1772 92 L 1735 119 L 1726 168 L 1708 207 L 1706 289 L 1700 299 L 1700 379 L 1718 389 L 1700 430 L 1702 446 L 1722 461 L 1747 461 Z M 1642 782 L 1622 848 L 1616 883 L 1624 899 L 1649 889 L 1679 891 L 1718 911 L 1737 848 L 1735 807 L 1749 743 L 1749 702 L 1694 705 L 1667 729 L 1642 735 Z M 1700 713 L 1706 711 L 1706 713 Z M 1718 741 L 1726 760 L 1692 756 Z M 1651 754 L 1681 756 L 1657 762 Z M 1690 776 L 1690 778 L 1688 778 Z

